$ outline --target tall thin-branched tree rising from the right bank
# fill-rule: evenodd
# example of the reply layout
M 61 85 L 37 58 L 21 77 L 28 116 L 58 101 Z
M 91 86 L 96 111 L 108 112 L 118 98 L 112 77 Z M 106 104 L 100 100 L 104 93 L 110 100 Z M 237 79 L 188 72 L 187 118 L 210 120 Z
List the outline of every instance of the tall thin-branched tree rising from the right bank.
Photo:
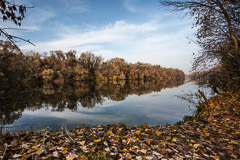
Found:
M 194 17 L 201 51 L 193 69 L 218 66 L 216 74 L 226 90 L 240 86 L 240 1 L 239 0 L 160 0 L 174 12 Z

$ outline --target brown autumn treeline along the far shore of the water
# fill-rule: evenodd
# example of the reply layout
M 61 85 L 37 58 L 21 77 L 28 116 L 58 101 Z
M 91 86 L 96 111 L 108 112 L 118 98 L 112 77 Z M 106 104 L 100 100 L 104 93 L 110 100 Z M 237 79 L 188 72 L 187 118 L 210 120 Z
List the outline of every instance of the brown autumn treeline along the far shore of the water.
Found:
M 81 81 L 174 79 L 182 81 L 184 72 L 148 63 L 127 63 L 122 58 L 103 61 L 101 56 L 76 51 L 22 53 L 10 42 L 0 41 L 0 82 L 67 84 Z

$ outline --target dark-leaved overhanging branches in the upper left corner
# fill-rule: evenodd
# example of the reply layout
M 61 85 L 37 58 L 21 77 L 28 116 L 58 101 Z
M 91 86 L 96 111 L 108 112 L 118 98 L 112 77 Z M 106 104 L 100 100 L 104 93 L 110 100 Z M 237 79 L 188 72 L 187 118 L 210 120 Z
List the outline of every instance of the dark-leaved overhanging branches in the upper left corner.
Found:
M 27 7 L 23 4 L 17 5 L 15 4 L 14 1 L 10 1 L 10 0 L 0 0 L 0 14 L 1 14 L 0 18 L 3 20 L 3 22 L 11 21 L 15 25 L 21 26 L 22 20 L 25 18 L 25 13 L 27 8 L 33 8 L 33 7 Z M 34 45 L 32 42 L 30 42 L 30 40 L 26 40 L 24 38 L 9 34 L 7 31 L 8 29 L 16 29 L 16 28 L 0 27 L 0 36 L 5 37 L 15 46 L 17 46 L 16 42 L 18 40 L 25 41 Z

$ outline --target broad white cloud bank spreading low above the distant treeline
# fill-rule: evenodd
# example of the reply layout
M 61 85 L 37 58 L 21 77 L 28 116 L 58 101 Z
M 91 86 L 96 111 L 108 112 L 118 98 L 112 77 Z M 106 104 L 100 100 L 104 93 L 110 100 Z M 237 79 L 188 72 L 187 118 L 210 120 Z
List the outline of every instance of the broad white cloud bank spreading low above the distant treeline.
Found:
M 82 30 L 76 26 L 56 26 L 59 38 L 48 42 L 21 46 L 23 50 L 76 50 L 78 53 L 91 51 L 106 59 L 121 57 L 128 62 L 137 61 L 174 67 L 188 72 L 191 53 L 197 48 L 189 45 L 187 36 L 193 31 L 191 25 L 182 20 L 168 23 L 150 20 L 136 24 L 120 20 L 106 26 Z

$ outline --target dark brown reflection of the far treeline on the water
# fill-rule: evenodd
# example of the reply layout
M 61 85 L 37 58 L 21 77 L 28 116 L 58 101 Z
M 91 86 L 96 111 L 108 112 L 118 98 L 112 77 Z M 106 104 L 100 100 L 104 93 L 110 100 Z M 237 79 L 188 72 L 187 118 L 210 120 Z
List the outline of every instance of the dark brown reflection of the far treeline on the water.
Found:
M 65 109 L 77 111 L 77 107 L 93 108 L 104 102 L 105 98 L 123 101 L 129 95 L 143 95 L 160 92 L 164 88 L 182 85 L 183 81 L 113 81 L 97 84 L 80 83 L 68 86 L 37 84 L 28 86 L 1 86 L 0 121 L 2 125 L 11 124 L 21 117 L 24 110 L 51 109 L 62 112 Z M 34 86 L 34 87 L 33 87 Z

